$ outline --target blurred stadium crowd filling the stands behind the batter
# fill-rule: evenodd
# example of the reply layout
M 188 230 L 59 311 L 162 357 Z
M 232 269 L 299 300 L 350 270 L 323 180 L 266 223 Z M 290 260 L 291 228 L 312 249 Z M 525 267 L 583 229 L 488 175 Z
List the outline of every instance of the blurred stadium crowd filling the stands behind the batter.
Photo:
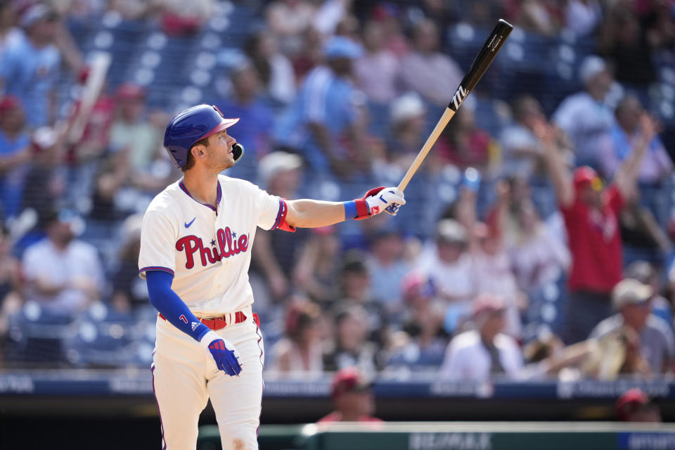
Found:
M 397 217 L 257 232 L 266 371 L 671 376 L 674 11 L 665 0 L 2 1 L 1 364 L 149 364 L 140 219 L 179 179 L 162 138 L 181 108 L 241 118 L 231 134 L 246 155 L 226 175 L 283 198 L 353 198 L 398 183 L 503 17 L 516 45 L 450 122 Z M 169 44 L 204 43 L 208 30 L 228 39 L 232 27 L 242 38 L 194 67 L 148 53 L 156 77 L 210 66 L 217 77 L 192 79 L 198 97 L 124 72 L 134 61 L 113 52 L 87 105 L 87 23 L 135 24 Z M 89 35 L 99 51 L 101 35 Z M 468 58 L 458 43 L 474 36 Z M 553 56 L 536 53 L 559 41 Z

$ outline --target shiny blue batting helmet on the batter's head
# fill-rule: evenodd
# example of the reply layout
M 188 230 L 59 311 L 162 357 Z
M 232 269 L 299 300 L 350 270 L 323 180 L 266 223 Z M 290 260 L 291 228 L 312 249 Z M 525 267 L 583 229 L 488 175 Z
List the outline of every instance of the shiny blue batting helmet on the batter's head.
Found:
M 188 152 L 195 142 L 223 131 L 237 122 L 239 119 L 226 119 L 215 105 L 193 106 L 177 114 L 169 122 L 164 134 L 164 147 L 174 165 L 183 167 L 188 162 Z M 243 154 L 243 148 L 242 151 L 233 153 L 235 161 L 238 161 Z

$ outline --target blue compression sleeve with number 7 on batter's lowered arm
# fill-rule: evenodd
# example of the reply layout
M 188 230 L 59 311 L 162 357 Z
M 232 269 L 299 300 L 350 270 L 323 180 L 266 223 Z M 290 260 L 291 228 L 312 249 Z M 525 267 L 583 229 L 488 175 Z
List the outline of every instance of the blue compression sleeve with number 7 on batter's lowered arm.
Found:
M 208 333 L 209 327 L 201 323 L 181 300 L 181 297 L 172 290 L 171 283 L 174 281 L 172 274 L 158 270 L 147 271 L 146 281 L 150 304 L 160 311 L 167 321 L 182 332 L 191 335 L 196 341 Z M 193 323 L 198 323 L 198 325 L 193 328 Z

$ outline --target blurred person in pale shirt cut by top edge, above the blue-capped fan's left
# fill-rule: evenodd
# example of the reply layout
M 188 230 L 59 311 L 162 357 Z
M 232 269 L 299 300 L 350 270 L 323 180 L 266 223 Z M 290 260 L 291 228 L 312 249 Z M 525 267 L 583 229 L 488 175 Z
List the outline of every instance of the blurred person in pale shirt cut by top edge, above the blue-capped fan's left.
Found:
M 293 56 L 300 51 L 301 35 L 311 24 L 316 6 L 307 0 L 275 0 L 266 10 L 267 26 L 281 51 Z

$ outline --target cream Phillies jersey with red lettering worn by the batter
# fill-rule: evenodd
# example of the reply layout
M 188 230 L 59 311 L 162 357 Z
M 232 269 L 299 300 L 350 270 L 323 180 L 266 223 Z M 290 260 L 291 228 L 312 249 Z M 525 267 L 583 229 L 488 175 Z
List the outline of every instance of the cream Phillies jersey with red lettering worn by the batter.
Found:
M 139 269 L 174 274 L 172 290 L 196 316 L 217 316 L 252 304 L 248 282 L 257 226 L 275 229 L 285 202 L 254 184 L 219 175 L 216 205 L 195 200 L 182 179 L 148 206 Z

